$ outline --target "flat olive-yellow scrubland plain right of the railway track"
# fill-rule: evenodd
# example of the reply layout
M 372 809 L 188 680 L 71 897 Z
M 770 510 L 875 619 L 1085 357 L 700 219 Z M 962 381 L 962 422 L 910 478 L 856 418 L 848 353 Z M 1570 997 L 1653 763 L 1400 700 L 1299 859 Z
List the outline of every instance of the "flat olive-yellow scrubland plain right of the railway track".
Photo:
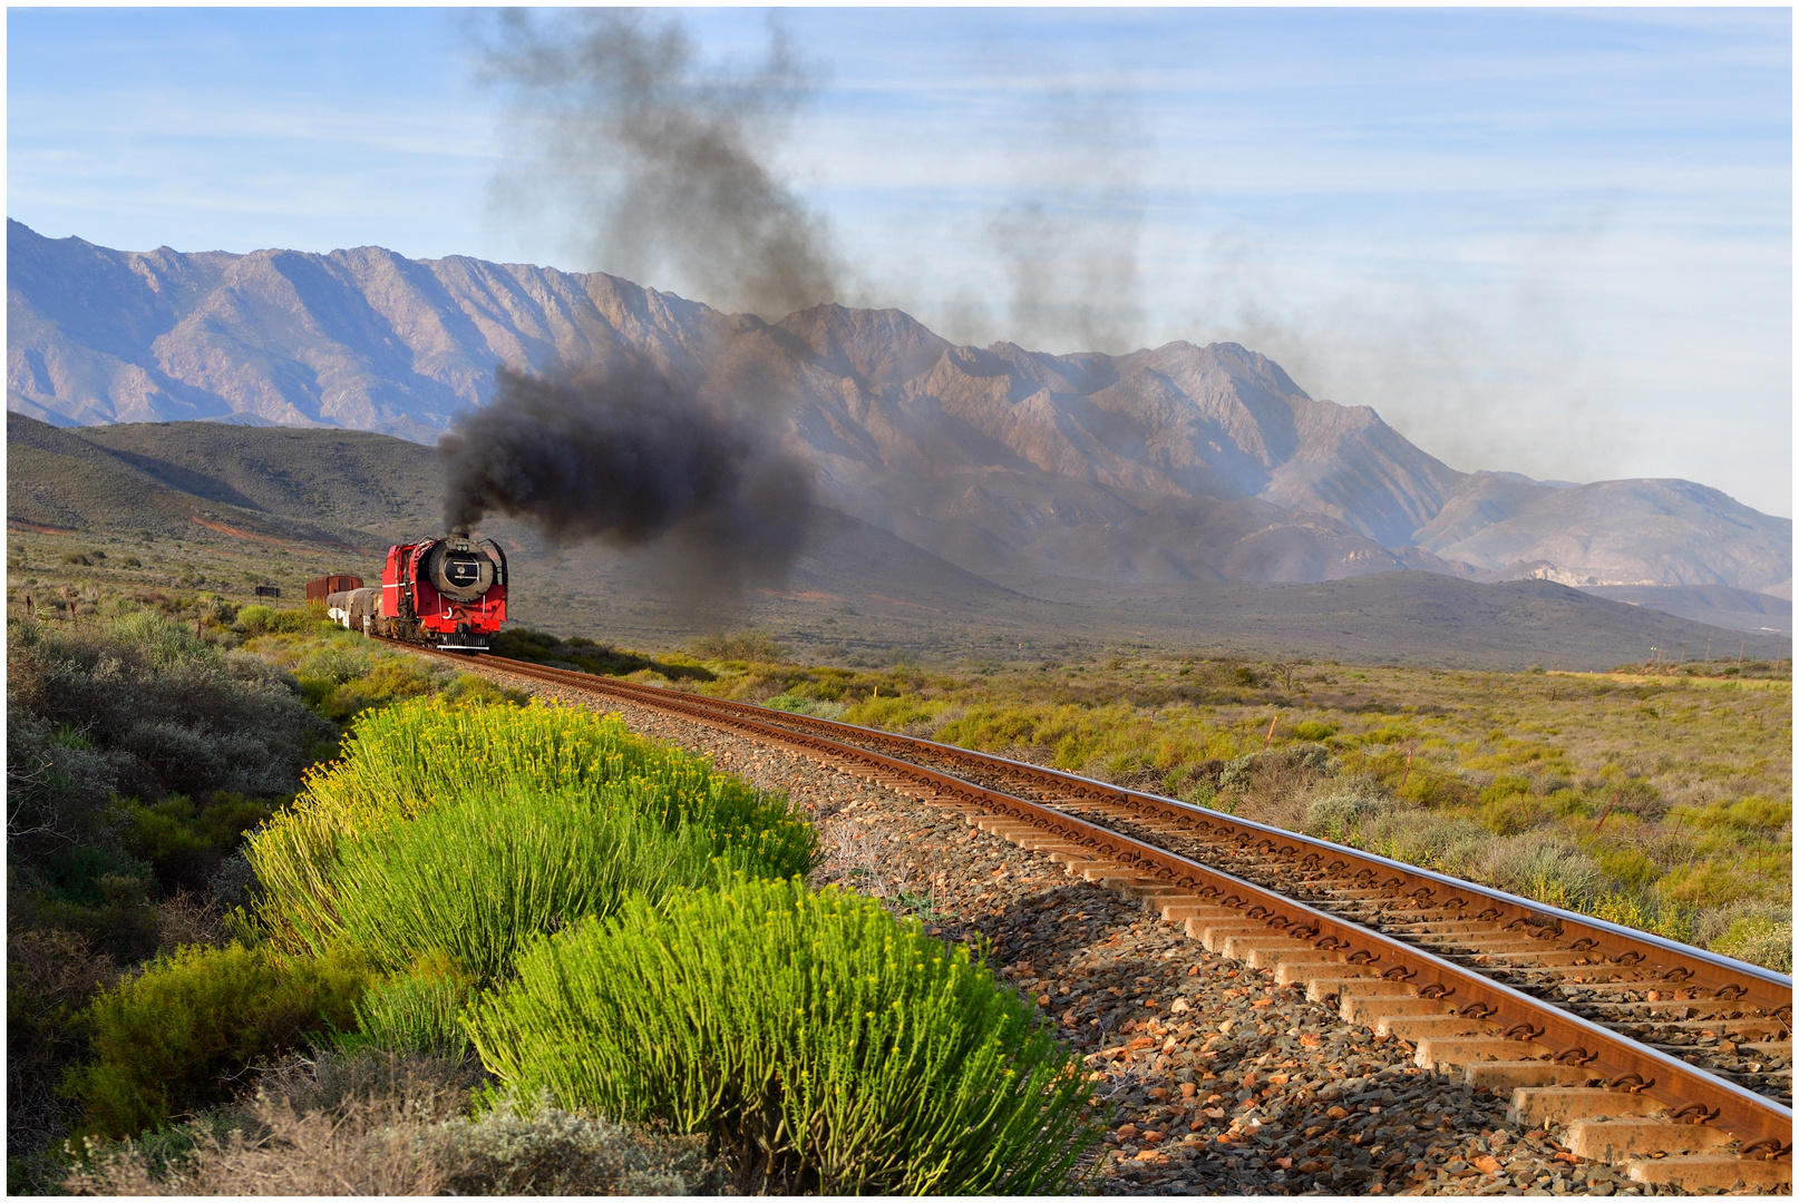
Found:
M 691 651 L 714 680 L 669 683 L 1180 797 L 1792 971 L 1786 662 L 1574 674 L 1135 651 L 856 671 L 766 637 Z

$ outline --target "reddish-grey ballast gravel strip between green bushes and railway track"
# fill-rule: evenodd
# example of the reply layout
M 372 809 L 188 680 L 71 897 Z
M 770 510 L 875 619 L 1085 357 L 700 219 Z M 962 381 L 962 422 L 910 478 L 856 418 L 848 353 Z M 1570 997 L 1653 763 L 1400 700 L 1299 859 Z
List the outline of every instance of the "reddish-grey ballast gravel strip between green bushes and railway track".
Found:
M 815 885 L 878 896 L 986 949 L 1092 1074 L 1103 1194 L 1680 1194 L 1513 1131 L 1506 1099 L 1412 1065 L 1263 969 L 952 811 L 685 717 L 507 676 L 786 791 L 826 849 Z

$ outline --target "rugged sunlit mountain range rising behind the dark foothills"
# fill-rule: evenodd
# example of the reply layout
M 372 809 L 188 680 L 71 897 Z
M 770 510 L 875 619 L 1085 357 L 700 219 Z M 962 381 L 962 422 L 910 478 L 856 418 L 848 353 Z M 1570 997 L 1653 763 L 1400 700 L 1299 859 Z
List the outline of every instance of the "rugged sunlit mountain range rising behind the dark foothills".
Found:
M 137 254 L 9 221 L 7 255 L 7 408 L 58 426 L 432 442 L 500 363 L 631 351 L 702 394 L 759 390 L 824 505 L 1013 590 L 1423 570 L 1673 588 L 1700 610 L 1792 597 L 1790 520 L 1686 480 L 1455 471 L 1236 343 L 962 347 L 898 309 L 770 324 L 601 273 L 374 246 Z

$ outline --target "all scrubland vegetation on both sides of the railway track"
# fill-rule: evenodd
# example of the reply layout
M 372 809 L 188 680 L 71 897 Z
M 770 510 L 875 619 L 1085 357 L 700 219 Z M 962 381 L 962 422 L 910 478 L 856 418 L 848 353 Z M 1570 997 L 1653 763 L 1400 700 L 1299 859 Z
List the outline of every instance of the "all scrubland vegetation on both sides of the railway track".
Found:
M 299 608 L 97 593 L 14 613 L 7 644 L 14 1192 L 1069 1183 L 1088 1101 L 1058 1047 L 966 953 L 797 885 L 817 842 L 784 798 Z M 855 669 L 754 631 L 500 651 L 1792 964 L 1785 664 Z

